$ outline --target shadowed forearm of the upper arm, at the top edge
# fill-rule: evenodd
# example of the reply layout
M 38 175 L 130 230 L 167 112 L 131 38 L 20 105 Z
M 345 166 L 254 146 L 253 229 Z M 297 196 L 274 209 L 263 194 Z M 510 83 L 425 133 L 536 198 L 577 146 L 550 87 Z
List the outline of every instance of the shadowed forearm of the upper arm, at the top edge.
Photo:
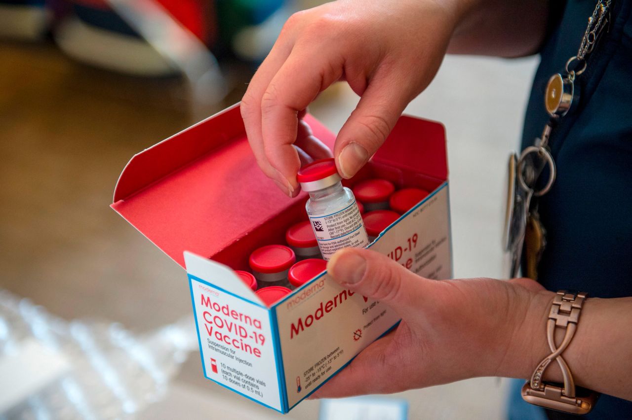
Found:
M 450 0 L 456 28 L 451 54 L 519 57 L 533 54 L 547 29 L 549 0 Z

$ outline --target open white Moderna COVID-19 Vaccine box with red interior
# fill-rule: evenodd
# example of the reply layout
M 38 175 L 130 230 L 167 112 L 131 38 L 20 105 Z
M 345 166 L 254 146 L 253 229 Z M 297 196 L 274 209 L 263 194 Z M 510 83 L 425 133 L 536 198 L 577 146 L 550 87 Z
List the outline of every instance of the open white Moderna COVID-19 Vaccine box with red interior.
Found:
M 335 136 L 313 117 L 315 136 Z M 370 245 L 428 278 L 452 275 L 447 156 L 441 124 L 401 117 L 352 180 L 386 178 L 432 191 Z M 112 207 L 186 266 L 206 378 L 288 412 L 399 322 L 388 306 L 315 277 L 267 308 L 233 269 L 284 243 L 307 219 L 301 192 L 282 194 L 258 170 L 234 105 L 134 156 Z

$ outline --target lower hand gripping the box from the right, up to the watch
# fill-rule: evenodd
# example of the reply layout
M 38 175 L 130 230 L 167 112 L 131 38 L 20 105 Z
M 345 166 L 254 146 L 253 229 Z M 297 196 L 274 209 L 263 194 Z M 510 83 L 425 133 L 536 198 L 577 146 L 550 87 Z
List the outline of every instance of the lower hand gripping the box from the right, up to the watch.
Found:
M 545 351 L 542 325 L 554 293 L 531 279 L 430 280 L 360 248 L 337 252 L 327 271 L 402 320 L 312 398 L 387 394 L 475 376 L 526 378 Z

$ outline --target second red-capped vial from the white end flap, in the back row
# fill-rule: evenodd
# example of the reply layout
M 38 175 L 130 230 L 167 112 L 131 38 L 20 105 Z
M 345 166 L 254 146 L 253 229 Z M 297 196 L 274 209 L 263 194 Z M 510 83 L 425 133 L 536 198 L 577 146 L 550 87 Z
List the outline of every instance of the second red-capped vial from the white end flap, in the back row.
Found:
M 285 245 L 265 245 L 257 248 L 248 259 L 259 288 L 289 286 L 288 270 L 295 262 L 294 251 Z

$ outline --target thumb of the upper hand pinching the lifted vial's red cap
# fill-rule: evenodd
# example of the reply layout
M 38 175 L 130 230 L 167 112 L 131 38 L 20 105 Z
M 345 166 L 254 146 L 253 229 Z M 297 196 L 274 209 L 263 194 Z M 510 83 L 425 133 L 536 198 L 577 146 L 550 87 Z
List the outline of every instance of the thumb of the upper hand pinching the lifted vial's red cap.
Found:
M 360 102 L 344 123 L 336 138 L 334 156 L 338 172 L 351 178 L 377 149 L 410 102 L 410 95 L 394 78 L 373 80 L 362 94 Z

